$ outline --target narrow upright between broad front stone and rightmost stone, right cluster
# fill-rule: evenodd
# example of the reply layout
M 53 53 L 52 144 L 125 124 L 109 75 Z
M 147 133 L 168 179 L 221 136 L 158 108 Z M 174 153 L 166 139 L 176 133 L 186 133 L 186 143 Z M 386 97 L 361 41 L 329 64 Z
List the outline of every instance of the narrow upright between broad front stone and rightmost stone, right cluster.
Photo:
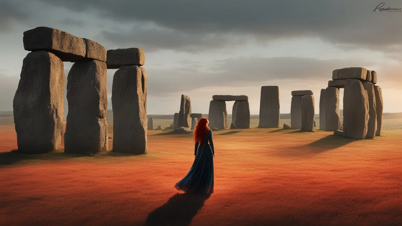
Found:
M 375 103 L 374 84 L 371 82 L 362 82 L 363 88 L 367 91 L 369 98 L 369 121 L 367 124 L 367 138 L 374 138 L 377 131 L 377 105 Z

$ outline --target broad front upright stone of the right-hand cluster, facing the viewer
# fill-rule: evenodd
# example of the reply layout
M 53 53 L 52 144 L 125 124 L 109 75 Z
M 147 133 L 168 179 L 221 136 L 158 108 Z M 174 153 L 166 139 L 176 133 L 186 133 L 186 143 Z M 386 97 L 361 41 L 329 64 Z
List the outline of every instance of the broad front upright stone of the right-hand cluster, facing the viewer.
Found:
M 365 139 L 369 121 L 369 98 L 363 84 L 357 79 L 348 79 L 343 96 L 343 136 Z

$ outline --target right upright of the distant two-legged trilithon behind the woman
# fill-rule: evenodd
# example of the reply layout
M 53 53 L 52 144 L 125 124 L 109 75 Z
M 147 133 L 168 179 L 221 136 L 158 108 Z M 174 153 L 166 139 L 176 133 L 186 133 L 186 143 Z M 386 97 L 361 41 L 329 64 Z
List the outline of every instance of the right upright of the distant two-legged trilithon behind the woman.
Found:
M 235 101 L 232 108 L 232 121 L 238 129 L 250 128 L 250 105 L 248 101 Z

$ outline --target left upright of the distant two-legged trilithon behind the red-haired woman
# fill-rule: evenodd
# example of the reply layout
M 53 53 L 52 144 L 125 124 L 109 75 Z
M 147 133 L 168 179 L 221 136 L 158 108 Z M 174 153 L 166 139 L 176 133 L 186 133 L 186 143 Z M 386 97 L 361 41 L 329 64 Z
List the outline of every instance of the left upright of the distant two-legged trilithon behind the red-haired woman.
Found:
M 212 100 L 209 102 L 208 121 L 210 128 L 228 129 L 228 112 L 225 101 Z

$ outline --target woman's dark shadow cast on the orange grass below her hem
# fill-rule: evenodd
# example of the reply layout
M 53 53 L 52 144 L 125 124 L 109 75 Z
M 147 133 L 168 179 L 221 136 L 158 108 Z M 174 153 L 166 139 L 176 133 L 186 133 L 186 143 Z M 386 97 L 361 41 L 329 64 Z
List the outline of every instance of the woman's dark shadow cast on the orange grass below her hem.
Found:
M 146 226 L 177 225 L 187 226 L 203 207 L 210 195 L 189 195 L 177 193 L 168 202 L 152 211 L 146 220 Z

